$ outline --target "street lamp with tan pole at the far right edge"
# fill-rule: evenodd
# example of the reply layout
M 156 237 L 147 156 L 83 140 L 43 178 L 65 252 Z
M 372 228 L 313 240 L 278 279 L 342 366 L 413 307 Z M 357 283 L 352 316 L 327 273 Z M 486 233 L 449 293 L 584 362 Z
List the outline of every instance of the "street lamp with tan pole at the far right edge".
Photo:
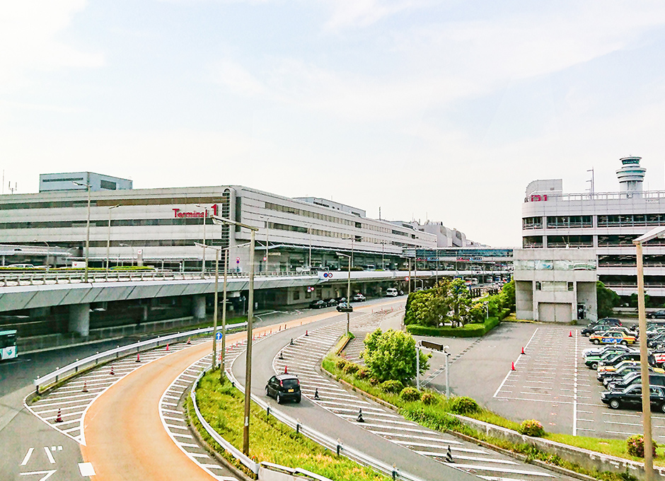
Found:
M 651 393 L 649 392 L 649 364 L 647 351 L 647 315 L 644 306 L 644 264 L 642 244 L 661 237 L 665 227 L 657 227 L 633 240 L 637 257 L 637 315 L 640 323 L 640 374 L 642 376 L 642 424 L 644 424 L 644 474 L 646 481 L 654 479 L 654 453 L 651 434 Z

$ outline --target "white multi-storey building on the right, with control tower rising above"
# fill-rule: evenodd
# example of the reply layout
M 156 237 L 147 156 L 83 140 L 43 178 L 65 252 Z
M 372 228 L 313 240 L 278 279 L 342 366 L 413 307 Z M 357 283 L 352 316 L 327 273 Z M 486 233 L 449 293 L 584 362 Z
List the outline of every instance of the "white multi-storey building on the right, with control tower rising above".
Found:
M 561 179 L 534 180 L 526 187 L 526 197 L 522 204 L 522 248 L 547 251 L 559 250 L 564 257 L 550 255 L 544 265 L 554 265 L 554 260 L 574 258 L 572 250 L 593 253 L 594 272 L 597 279 L 620 296 L 630 296 L 637 292 L 637 262 L 635 245 L 632 240 L 642 236 L 655 226 L 665 225 L 665 192 L 644 191 L 642 185 L 646 169 L 640 166 L 640 157 L 621 158 L 621 167 L 616 171 L 618 192 L 591 192 L 565 194 Z M 585 254 L 586 255 L 586 254 Z M 537 299 L 542 294 L 536 292 L 536 283 L 542 289 L 550 273 L 540 269 L 536 277 L 526 278 L 519 272 L 522 266 L 518 259 L 524 258 L 516 250 L 515 279 L 519 296 L 526 296 L 522 306 L 530 306 L 528 299 Z M 528 257 L 528 256 L 526 256 Z M 535 259 L 534 259 L 535 260 Z M 545 260 L 545 259 L 541 259 Z M 542 267 L 542 263 L 540 263 Z M 589 270 L 572 268 L 588 282 Z M 572 274 L 566 274 L 561 282 L 577 282 Z M 564 285 L 564 284 L 561 284 Z M 568 284 L 566 284 L 567 286 Z M 652 297 L 665 297 L 665 239 L 650 240 L 644 245 L 644 285 Z M 566 287 L 567 289 L 567 287 Z M 574 288 L 578 292 L 577 284 Z M 584 291 L 584 289 L 582 289 Z M 545 308 L 543 312 L 569 312 L 573 319 L 578 318 L 575 301 L 568 308 Z M 595 306 L 580 299 L 579 315 L 595 312 Z M 586 305 L 584 309 L 582 306 Z M 523 309 L 517 313 L 522 318 L 539 319 L 538 306 Z M 591 316 L 586 315 L 586 318 Z M 550 320 L 549 318 L 540 320 Z

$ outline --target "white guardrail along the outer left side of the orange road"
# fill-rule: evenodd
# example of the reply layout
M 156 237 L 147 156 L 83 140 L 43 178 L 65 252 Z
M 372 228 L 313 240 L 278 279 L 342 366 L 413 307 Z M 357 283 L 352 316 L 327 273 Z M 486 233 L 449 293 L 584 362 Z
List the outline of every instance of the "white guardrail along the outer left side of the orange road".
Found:
M 246 326 L 247 326 L 246 322 L 226 325 L 226 331 L 228 332 L 229 330 L 235 330 L 237 328 L 245 328 Z M 170 342 L 180 342 L 186 340 L 189 337 L 207 334 L 208 332 L 212 332 L 212 328 L 201 328 L 186 332 L 177 332 L 175 334 L 155 337 L 154 339 L 146 341 L 139 341 L 134 344 L 127 344 L 127 346 L 116 347 L 115 349 L 110 349 L 109 351 L 101 353 L 98 352 L 97 354 L 93 354 L 90 357 L 86 357 L 85 359 L 81 359 L 80 361 L 79 360 L 74 361 L 73 363 L 68 364 L 67 366 L 58 368 L 55 371 L 48 373 L 46 376 L 41 376 L 41 377 L 38 376 L 37 379 L 33 381 L 33 384 L 35 386 L 35 393 L 40 394 L 45 389 L 50 388 L 54 384 L 57 384 L 60 381 L 64 381 L 65 379 L 70 378 L 71 376 L 75 376 L 80 371 L 84 371 L 91 367 L 98 366 L 99 364 L 103 364 L 105 362 L 112 361 L 120 357 L 125 357 L 129 354 L 134 354 L 135 352 L 138 353 L 146 351 L 147 349 L 152 349 L 154 347 L 162 346 Z

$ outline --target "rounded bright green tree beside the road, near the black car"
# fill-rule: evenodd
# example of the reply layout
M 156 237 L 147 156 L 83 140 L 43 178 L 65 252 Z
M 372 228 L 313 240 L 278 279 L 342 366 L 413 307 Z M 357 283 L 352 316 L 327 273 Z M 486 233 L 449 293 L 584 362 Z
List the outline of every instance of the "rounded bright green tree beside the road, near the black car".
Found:
M 377 329 L 366 335 L 362 358 L 378 381 L 407 383 L 416 375 L 415 340 L 402 331 Z M 429 356 L 420 352 L 420 373 L 429 369 Z

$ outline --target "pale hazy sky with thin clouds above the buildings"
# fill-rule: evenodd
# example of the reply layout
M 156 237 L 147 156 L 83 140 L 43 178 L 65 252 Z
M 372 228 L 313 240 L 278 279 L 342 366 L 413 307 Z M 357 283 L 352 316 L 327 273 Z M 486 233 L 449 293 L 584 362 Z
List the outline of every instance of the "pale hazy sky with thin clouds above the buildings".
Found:
M 0 4 L 2 192 L 246 185 L 521 243 L 531 180 L 665 190 L 665 2 Z

